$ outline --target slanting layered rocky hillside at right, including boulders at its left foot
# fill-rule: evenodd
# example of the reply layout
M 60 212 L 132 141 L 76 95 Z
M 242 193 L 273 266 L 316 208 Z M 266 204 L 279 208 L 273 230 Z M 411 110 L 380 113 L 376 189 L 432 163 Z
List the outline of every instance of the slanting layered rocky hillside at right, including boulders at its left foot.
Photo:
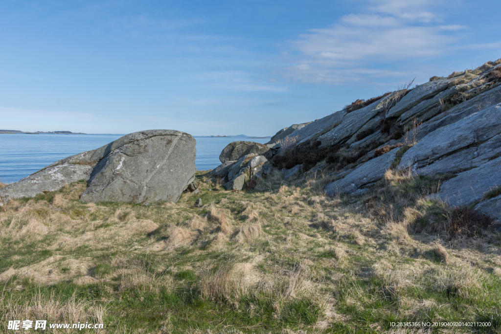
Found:
M 439 175 L 430 197 L 501 219 L 501 59 L 411 85 L 284 128 L 267 148 L 240 148 L 212 174 L 241 189 L 270 165 L 291 180 L 322 172 L 331 196 L 362 195 L 389 169 Z

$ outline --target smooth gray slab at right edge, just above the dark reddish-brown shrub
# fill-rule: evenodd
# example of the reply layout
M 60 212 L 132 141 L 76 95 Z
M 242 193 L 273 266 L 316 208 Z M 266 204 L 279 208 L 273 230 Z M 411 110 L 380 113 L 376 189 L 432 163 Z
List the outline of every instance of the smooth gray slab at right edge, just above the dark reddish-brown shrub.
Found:
M 430 198 L 439 198 L 451 206 L 468 205 L 496 186 L 501 186 L 501 157 L 445 181 Z

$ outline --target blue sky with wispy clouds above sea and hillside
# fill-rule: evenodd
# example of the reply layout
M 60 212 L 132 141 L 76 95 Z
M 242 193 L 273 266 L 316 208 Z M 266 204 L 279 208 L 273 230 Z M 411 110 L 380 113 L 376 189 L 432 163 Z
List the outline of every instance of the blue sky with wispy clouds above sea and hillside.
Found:
M 493 1 L 0 2 L 0 129 L 273 135 L 501 57 Z

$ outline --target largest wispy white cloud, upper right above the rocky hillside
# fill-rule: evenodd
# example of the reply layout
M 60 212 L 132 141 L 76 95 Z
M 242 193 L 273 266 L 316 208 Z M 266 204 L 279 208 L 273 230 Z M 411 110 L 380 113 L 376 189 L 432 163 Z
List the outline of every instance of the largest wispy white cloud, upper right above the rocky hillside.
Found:
M 440 9 L 440 0 L 367 0 L 359 13 L 292 41 L 296 53 L 281 75 L 318 84 L 404 77 L 401 61 L 440 57 L 459 47 L 467 27 L 446 24 Z

